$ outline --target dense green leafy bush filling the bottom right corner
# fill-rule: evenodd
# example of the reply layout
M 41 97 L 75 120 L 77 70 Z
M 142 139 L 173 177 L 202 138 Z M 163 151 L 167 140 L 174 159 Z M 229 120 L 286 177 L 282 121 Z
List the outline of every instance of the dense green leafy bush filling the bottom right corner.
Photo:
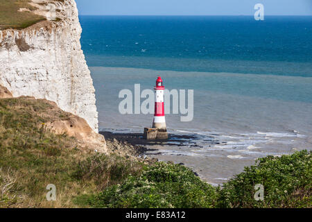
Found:
M 218 207 L 311 207 L 311 151 L 263 157 L 223 185 Z M 254 200 L 254 185 L 264 200 Z

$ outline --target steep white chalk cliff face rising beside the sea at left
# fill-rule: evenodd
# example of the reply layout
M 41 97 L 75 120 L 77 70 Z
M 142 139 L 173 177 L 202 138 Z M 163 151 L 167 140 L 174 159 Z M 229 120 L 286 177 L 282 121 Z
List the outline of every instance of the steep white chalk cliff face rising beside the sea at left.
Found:
M 96 99 L 80 46 L 76 2 L 33 0 L 31 4 L 38 8 L 35 14 L 48 20 L 21 31 L 0 31 L 0 85 L 13 96 L 54 101 L 85 119 L 97 133 Z

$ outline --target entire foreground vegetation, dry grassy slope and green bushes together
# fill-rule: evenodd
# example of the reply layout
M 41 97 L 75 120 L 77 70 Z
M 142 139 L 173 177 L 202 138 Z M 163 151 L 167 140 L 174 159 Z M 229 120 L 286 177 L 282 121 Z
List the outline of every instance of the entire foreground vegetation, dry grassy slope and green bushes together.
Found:
M 212 187 L 187 167 L 94 153 L 46 130 L 67 118 L 46 100 L 0 99 L 0 207 L 312 207 L 311 151 L 261 158 Z M 56 201 L 46 200 L 49 184 Z

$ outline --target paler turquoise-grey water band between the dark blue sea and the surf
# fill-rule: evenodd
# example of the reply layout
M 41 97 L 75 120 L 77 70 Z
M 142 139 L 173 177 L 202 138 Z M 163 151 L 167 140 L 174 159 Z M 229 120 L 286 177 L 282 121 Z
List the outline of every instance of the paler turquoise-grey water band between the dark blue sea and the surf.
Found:
M 120 114 L 121 89 L 153 89 L 160 74 L 166 89 L 193 89 L 193 121 L 168 114 L 168 128 L 257 133 L 312 133 L 312 78 L 91 67 L 101 128 L 149 126 L 153 114 Z M 141 99 L 141 103 L 145 99 Z M 171 101 L 171 106 L 173 105 Z

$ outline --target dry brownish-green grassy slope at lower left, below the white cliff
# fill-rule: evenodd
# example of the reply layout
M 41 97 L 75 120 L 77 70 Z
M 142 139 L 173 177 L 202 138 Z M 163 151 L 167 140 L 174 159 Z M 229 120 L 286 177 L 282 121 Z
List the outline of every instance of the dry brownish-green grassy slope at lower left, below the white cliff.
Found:
M 80 148 L 73 137 L 55 135 L 42 124 L 66 118 L 45 100 L 0 99 L 0 208 L 76 207 L 76 196 L 139 172 L 139 163 Z M 49 184 L 56 187 L 56 201 L 46 200 Z

